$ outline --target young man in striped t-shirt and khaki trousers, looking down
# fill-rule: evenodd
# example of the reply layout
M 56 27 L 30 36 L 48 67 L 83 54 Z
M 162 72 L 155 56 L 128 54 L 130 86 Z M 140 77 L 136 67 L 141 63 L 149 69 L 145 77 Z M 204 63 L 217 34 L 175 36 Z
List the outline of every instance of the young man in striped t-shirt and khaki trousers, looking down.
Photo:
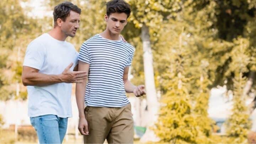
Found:
M 108 143 L 133 143 L 133 118 L 126 92 L 137 97 L 146 92 L 144 85 L 134 86 L 128 80 L 134 48 L 119 37 L 130 11 L 123 0 L 107 2 L 106 30 L 80 48 L 78 70 L 89 74 L 88 82 L 76 84 L 84 143 L 103 143 L 105 139 Z

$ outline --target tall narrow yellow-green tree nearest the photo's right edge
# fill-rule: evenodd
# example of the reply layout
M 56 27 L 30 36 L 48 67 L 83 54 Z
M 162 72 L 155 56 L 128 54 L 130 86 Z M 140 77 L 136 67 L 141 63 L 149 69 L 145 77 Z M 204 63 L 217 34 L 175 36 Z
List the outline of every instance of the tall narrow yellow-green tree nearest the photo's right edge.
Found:
M 232 50 L 232 67 L 235 78 L 233 90 L 233 108 L 232 114 L 226 122 L 227 134 L 234 143 L 244 143 L 247 140 L 247 134 L 251 127 L 249 120 L 249 111 L 245 105 L 246 94 L 244 94 L 244 86 L 246 77 L 243 73 L 248 71 L 246 65 L 250 63 L 250 57 L 246 54 L 246 48 L 249 46 L 247 39 L 239 38 L 234 40 L 235 47 Z

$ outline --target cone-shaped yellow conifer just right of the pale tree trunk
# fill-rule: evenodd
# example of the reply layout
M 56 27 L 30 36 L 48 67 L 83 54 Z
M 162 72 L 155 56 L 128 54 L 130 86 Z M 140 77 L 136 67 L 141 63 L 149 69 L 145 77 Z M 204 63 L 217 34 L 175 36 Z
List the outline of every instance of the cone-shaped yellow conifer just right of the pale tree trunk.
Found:
M 197 128 L 196 114 L 193 113 L 191 95 L 187 89 L 189 80 L 186 77 L 186 65 L 190 50 L 183 42 L 184 27 L 178 37 L 176 47 L 169 50 L 170 63 L 168 71 L 163 74 L 162 83 L 166 93 L 162 95 L 163 106 L 160 108 L 159 121 L 156 123 L 156 134 L 163 142 L 169 143 L 196 143 L 200 133 Z

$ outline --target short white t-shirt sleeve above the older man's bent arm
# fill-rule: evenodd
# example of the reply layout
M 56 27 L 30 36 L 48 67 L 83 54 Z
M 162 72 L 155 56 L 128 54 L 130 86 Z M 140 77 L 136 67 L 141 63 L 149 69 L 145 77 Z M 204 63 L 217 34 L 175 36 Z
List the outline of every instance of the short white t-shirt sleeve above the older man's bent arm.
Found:
M 36 42 L 31 42 L 26 50 L 23 66 L 40 70 L 45 59 L 44 47 Z

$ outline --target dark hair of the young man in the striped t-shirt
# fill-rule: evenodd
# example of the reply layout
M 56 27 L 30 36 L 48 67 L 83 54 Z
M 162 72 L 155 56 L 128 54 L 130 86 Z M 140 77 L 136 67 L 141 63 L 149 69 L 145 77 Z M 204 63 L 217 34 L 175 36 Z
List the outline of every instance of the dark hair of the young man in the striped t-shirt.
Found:
M 125 13 L 127 18 L 130 16 L 130 5 L 124 0 L 111 0 L 107 2 L 107 16 L 110 16 L 111 13 Z

